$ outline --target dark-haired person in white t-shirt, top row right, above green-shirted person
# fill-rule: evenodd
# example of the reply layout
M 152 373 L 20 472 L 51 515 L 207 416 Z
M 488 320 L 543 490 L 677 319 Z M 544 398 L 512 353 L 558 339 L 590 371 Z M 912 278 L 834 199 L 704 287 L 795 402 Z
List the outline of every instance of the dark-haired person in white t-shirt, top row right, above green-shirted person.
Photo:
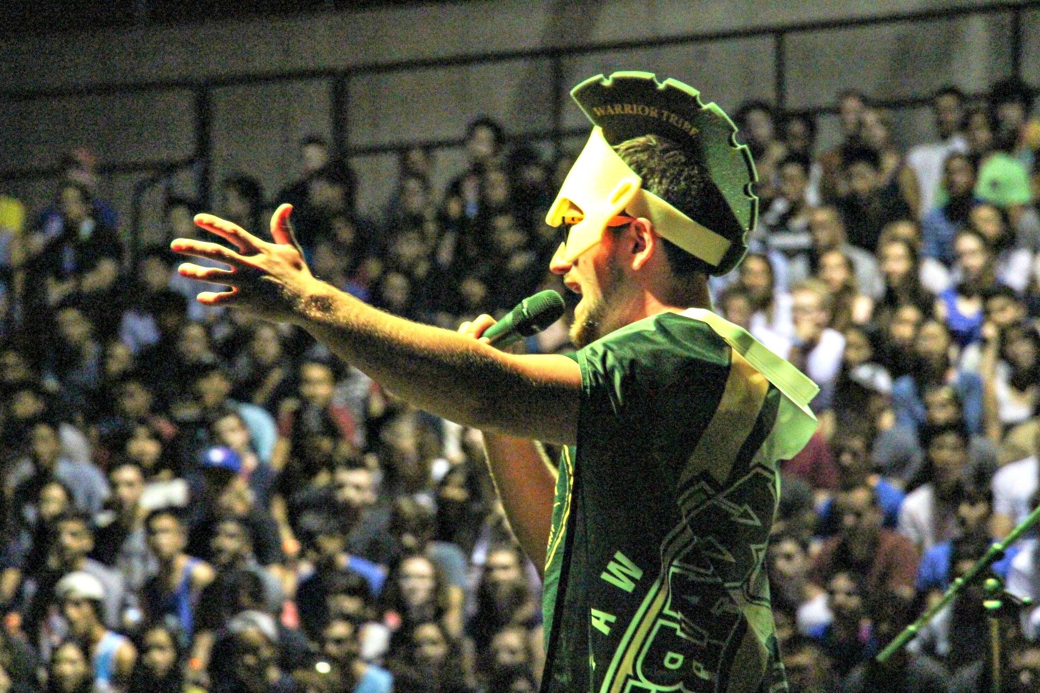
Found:
M 953 85 L 936 90 L 932 97 L 932 118 L 938 139 L 910 148 L 907 165 L 917 174 L 920 211 L 928 213 L 945 203 L 951 194 L 943 186 L 943 164 L 952 154 L 967 154 L 964 137 L 964 94 Z

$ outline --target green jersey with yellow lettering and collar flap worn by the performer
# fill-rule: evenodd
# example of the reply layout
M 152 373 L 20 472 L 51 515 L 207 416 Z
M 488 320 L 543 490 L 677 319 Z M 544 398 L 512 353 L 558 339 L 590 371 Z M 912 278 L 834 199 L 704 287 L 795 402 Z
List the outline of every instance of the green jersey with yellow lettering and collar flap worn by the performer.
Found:
M 816 388 L 707 311 L 579 350 L 546 554 L 543 691 L 786 690 L 765 576 Z

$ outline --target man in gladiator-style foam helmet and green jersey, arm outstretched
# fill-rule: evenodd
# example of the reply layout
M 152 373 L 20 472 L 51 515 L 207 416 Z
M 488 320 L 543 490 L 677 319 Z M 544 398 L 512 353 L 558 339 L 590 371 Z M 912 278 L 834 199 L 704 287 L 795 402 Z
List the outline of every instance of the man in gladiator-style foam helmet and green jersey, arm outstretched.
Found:
M 572 91 L 594 124 L 547 222 L 550 269 L 581 295 L 571 355 L 514 355 L 479 337 L 372 309 L 315 279 L 289 226 L 268 243 L 208 214 L 230 241 L 173 249 L 203 292 L 307 329 L 412 404 L 484 431 L 506 514 L 545 566 L 543 690 L 785 690 L 765 577 L 777 463 L 815 428 L 815 385 L 710 313 L 709 275 L 747 250 L 754 165 L 714 104 L 648 73 Z M 477 338 L 477 339 L 474 339 Z M 558 473 L 534 441 L 565 445 Z

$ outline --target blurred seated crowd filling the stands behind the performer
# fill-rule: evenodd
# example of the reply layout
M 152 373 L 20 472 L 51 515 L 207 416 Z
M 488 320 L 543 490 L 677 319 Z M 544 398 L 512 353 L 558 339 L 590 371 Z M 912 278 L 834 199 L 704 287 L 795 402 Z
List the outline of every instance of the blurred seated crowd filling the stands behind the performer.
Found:
M 766 556 L 780 648 L 792 691 L 989 690 L 981 585 L 873 658 L 1037 506 L 1033 91 L 941 88 L 927 142 L 866 95 L 836 105 L 826 151 L 813 117 L 735 111 L 760 219 L 712 281 L 717 312 L 821 388 Z M 452 329 L 564 292 L 544 215 L 576 152 L 489 118 L 466 151 L 443 194 L 435 152 L 402 152 L 371 218 L 308 138 L 291 185 L 236 174 L 206 211 L 263 233 L 291 203 L 317 276 Z M 538 572 L 479 432 L 295 328 L 194 302 L 167 246 L 200 237 L 196 199 L 167 194 L 163 243 L 131 256 L 90 154 L 64 171 L 45 209 L 0 196 L 0 693 L 537 690 Z M 526 348 L 572 348 L 566 321 Z M 1034 604 L 1035 536 L 992 568 Z M 1006 603 L 1005 690 L 1040 690 L 1040 609 Z

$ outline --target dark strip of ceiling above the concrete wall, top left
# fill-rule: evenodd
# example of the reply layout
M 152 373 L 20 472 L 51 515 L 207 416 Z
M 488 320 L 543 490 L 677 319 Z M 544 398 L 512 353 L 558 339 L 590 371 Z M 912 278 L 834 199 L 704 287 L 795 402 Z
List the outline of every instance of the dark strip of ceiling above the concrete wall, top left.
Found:
M 456 2 L 465 0 L 454 0 Z M 0 35 L 279 17 L 423 4 L 416 0 L 28 0 L 4 3 Z

